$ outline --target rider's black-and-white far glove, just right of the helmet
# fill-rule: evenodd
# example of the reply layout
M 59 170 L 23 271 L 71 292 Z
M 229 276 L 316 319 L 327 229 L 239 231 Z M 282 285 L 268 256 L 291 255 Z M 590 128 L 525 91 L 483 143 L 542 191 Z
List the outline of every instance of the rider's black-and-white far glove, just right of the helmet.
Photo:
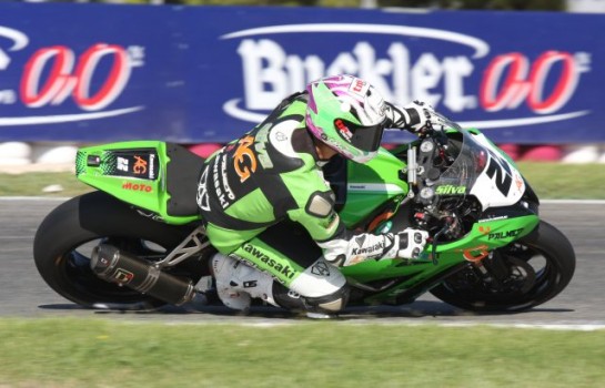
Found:
M 404 108 L 397 108 L 389 102 L 386 118 L 391 121 L 387 127 L 399 127 L 411 132 L 422 132 L 424 129 L 443 130 L 444 119 L 435 112 L 433 106 L 422 101 L 414 101 Z M 390 125 L 389 125 L 390 124 Z

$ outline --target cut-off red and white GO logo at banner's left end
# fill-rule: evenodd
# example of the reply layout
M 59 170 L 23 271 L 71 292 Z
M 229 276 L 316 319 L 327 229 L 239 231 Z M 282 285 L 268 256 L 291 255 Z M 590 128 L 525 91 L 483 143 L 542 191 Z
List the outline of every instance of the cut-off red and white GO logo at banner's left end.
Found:
M 144 109 L 141 105 L 111 108 L 128 86 L 133 70 L 144 65 L 143 47 L 92 43 L 79 45 L 74 51 L 61 44 L 36 47 L 32 43 L 24 32 L 0 25 L 0 74 L 12 70 L 16 55 L 29 54 L 18 78 L 20 82 L 0 86 L 0 106 L 26 108 L 31 112 L 44 109 L 44 114 L 11 118 L 4 113 L 0 126 L 100 120 Z M 62 106 L 73 106 L 72 112 L 52 114 L 53 109 Z

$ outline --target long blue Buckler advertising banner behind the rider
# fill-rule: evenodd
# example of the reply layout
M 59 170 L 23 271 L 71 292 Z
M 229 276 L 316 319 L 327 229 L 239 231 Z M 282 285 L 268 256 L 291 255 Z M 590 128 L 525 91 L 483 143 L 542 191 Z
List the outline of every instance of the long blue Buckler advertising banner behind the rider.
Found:
M 0 3 L 0 141 L 225 142 L 309 81 L 350 73 L 500 143 L 604 142 L 604 25 L 555 12 Z

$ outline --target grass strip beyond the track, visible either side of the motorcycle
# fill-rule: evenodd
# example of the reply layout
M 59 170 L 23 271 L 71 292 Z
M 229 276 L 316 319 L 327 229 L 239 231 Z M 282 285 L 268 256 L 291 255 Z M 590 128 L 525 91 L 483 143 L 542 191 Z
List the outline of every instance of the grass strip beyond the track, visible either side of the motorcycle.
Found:
M 605 198 L 604 164 L 520 163 L 518 166 L 541 198 Z M 64 190 L 42 192 L 52 184 Z M 91 190 L 73 173 L 0 174 L 0 196 L 74 196 Z

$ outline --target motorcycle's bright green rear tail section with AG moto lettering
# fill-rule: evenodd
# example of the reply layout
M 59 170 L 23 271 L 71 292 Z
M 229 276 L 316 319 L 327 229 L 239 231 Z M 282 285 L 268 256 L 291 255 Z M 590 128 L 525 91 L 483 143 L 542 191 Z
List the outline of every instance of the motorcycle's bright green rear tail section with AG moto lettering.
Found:
M 75 175 L 154 219 L 186 224 L 199 218 L 195 195 L 203 162 L 173 143 L 120 142 L 80 149 Z

